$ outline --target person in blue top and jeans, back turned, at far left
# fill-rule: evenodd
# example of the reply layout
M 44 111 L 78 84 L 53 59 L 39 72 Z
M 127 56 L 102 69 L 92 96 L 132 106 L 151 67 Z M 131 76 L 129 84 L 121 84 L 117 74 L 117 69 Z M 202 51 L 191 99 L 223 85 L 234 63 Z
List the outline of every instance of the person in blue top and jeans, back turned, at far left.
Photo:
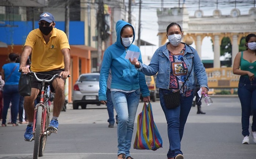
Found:
M 19 73 L 19 63 L 15 63 L 19 55 L 16 53 L 9 54 L 10 63 L 4 64 L 2 67 L 2 79 L 4 80 L 4 88 L 3 88 L 3 99 L 4 99 L 4 108 L 3 108 L 3 120 L 2 126 L 6 126 L 6 116 L 8 112 L 8 108 L 11 106 L 11 122 L 12 126 L 18 126 L 16 123 L 18 111 L 19 111 L 19 92 L 18 92 L 18 84 L 21 73 Z

